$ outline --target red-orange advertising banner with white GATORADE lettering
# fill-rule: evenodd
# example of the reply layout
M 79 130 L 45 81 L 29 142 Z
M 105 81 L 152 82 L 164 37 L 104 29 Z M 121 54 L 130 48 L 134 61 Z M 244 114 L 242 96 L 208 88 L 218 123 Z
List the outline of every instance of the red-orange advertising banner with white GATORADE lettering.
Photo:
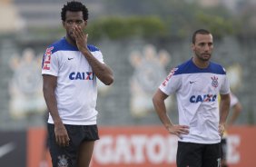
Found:
M 91 167 L 175 167 L 177 137 L 162 126 L 99 127 L 100 140 L 95 142 Z M 236 126 L 229 129 L 228 162 L 231 167 L 256 166 L 256 127 Z M 27 167 L 38 166 L 44 156 L 45 131 L 28 132 Z

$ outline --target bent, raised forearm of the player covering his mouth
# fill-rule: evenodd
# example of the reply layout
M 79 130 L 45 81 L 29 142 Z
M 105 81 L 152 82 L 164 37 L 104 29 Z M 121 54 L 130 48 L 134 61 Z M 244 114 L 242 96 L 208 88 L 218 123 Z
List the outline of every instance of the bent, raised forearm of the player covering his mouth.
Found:
M 88 63 L 92 66 L 94 74 L 106 85 L 113 83 L 113 72 L 111 68 L 99 62 L 93 54 L 88 50 L 83 50 L 82 53 L 87 59 Z

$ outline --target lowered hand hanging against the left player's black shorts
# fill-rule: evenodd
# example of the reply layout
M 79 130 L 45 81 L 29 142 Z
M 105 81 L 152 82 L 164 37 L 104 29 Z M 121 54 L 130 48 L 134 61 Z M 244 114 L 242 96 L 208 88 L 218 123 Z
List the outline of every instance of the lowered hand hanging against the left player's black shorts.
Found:
M 63 123 L 54 124 L 54 133 L 55 133 L 55 139 L 58 145 L 63 147 L 69 145 L 70 139 L 68 137 L 68 133 Z

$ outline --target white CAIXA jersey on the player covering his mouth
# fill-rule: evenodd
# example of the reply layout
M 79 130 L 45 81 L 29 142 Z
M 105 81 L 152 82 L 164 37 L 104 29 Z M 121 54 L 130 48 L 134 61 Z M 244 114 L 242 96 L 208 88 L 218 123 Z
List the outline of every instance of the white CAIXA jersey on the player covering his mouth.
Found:
M 103 63 L 103 54 L 93 45 L 90 52 Z M 65 38 L 50 45 L 44 54 L 42 74 L 57 77 L 55 97 L 64 124 L 96 124 L 96 76 L 84 55 Z M 54 123 L 49 114 L 48 123 Z

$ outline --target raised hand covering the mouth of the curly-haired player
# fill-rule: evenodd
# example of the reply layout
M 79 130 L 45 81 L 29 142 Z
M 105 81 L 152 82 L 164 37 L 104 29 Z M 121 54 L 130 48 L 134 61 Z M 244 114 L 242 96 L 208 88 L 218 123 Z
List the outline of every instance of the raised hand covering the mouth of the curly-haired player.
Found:
M 88 34 L 84 34 L 83 29 L 78 25 L 74 25 L 73 32 L 74 32 L 75 43 L 78 50 L 82 51 L 84 49 L 87 49 Z

